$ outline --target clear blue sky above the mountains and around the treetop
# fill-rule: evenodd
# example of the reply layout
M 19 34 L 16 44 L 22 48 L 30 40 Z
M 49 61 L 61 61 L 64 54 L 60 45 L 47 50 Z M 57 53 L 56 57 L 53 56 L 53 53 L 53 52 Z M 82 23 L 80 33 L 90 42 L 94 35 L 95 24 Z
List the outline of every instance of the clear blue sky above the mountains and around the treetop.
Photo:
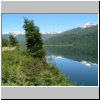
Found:
M 33 20 L 43 33 L 70 30 L 85 23 L 98 23 L 97 14 L 2 14 L 2 33 L 24 33 L 24 17 Z

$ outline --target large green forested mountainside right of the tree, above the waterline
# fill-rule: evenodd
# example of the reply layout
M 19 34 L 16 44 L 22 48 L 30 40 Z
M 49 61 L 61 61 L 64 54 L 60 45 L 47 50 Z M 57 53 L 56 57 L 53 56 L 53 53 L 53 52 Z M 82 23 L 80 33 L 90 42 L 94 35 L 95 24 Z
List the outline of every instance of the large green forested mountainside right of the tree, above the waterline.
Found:
M 53 36 L 45 41 L 46 45 L 66 45 L 66 44 L 87 44 L 97 43 L 98 41 L 98 25 L 88 28 L 75 28 L 64 31 L 61 34 Z

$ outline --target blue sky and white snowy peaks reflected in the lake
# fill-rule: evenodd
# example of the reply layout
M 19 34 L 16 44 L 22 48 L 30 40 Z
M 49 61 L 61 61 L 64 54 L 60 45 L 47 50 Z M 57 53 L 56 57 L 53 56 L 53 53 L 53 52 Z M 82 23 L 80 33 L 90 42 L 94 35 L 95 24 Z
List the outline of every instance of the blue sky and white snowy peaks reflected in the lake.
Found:
M 61 55 L 46 56 L 47 62 L 59 68 L 60 72 L 69 77 L 78 86 L 98 85 L 98 65 L 90 61 L 77 61 Z

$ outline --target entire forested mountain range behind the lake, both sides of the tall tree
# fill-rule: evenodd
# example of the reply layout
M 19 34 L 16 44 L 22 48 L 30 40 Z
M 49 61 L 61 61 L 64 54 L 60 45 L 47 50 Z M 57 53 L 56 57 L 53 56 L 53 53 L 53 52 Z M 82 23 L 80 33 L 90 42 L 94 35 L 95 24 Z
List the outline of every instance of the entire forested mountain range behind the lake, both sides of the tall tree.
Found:
M 2 38 L 8 39 L 9 34 L 2 34 Z M 24 43 L 25 34 L 17 34 L 16 39 L 18 42 Z M 42 34 L 42 39 L 46 45 L 87 45 L 88 43 L 95 45 L 98 42 L 98 25 L 87 28 L 78 27 L 59 34 Z

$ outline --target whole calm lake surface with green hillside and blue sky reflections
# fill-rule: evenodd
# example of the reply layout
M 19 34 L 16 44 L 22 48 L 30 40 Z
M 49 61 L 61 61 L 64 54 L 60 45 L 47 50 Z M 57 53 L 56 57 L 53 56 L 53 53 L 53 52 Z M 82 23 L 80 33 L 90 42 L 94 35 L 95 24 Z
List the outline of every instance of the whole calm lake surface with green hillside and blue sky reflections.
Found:
M 83 47 L 45 47 L 47 62 L 54 64 L 78 86 L 98 85 L 98 55 Z

